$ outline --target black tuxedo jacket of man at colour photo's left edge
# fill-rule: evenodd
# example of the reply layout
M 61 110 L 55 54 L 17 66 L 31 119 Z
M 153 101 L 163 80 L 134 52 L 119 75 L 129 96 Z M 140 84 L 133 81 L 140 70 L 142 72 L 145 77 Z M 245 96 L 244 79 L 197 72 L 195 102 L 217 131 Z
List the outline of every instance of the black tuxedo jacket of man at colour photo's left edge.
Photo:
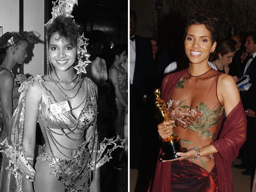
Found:
M 138 97 L 148 93 L 148 80 L 153 73 L 153 53 L 149 39 L 135 35 L 135 69 L 133 75 L 133 90 Z

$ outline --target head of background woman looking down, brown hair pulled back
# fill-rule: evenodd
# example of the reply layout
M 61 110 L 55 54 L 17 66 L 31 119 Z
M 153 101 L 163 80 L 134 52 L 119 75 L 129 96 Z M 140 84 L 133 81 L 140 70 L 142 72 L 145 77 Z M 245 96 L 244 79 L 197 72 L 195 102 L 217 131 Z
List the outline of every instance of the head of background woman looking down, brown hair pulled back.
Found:
M 216 49 L 209 60 L 218 71 L 229 74 L 229 64 L 235 55 L 235 45 L 231 39 L 222 39 L 217 42 Z

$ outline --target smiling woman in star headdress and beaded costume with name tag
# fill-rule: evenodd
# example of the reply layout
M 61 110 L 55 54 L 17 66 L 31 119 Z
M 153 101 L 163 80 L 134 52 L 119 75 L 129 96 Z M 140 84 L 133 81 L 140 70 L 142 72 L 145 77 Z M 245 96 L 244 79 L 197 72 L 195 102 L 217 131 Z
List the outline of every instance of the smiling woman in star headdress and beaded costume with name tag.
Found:
M 82 78 L 90 62 L 87 43 L 74 19 L 65 16 L 71 14 L 75 1 L 56 2 L 55 17 L 46 24 L 47 74 L 30 77 L 19 88 L 11 121 L 15 137 L 1 143 L 7 148 L 1 152 L 11 162 L 5 165 L 9 175 L 19 175 L 14 191 L 100 191 L 99 167 L 112 158 L 115 148 L 123 147 L 125 139 L 118 136 L 98 143 L 98 90 L 91 79 Z M 45 145 L 36 157 L 37 122 Z M 113 147 L 105 152 L 107 145 Z

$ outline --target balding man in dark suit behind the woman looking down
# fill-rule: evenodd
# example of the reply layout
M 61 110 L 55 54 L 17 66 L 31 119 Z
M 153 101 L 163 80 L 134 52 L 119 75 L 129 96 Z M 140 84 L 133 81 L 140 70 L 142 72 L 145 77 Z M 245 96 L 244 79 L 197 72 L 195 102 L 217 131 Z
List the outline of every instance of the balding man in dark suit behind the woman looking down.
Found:
M 241 37 L 238 35 L 233 35 L 230 37 L 231 39 L 234 40 L 235 42 L 235 55 L 232 59 L 232 63 L 229 65 L 229 75 L 233 76 L 236 79 L 241 78 L 241 55 L 242 55 L 242 50 L 240 49 L 242 42 L 241 42 Z M 242 75 L 243 77 L 243 75 Z

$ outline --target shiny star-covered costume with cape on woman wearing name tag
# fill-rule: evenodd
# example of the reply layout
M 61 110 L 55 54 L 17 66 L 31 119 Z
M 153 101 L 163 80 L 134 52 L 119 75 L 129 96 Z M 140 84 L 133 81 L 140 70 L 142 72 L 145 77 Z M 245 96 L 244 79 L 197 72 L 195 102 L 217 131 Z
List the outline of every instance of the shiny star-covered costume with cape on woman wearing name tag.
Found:
M 112 158 L 110 153 L 117 147 L 123 148 L 125 140 L 121 141 L 119 137 L 116 140 L 113 140 L 113 138 L 105 138 L 102 143 L 99 145 L 97 144 L 96 92 L 95 84 L 90 79 L 85 78 L 85 81 L 88 83 L 85 83 L 85 85 L 89 86 L 88 89 L 90 90 L 91 99 L 88 101 L 86 100 L 87 102 L 84 103 L 83 110 L 81 111 L 78 119 L 76 119 L 70 112 L 59 113 L 56 115 L 51 113 L 49 105 L 56 103 L 56 101 L 51 92 L 46 89 L 43 81 L 44 80 L 40 75 L 37 75 L 34 78 L 30 77 L 27 81 L 23 82 L 19 88 L 21 96 L 19 98 L 18 107 L 15 109 L 11 121 L 10 137 L 0 143 L 1 146 L 6 145 L 6 149 L 1 150 L 1 152 L 5 153 L 9 160 L 9 162 L 2 165 L 8 172 L 4 175 L 6 182 L 4 183 L 3 188 L 1 188 L 1 191 L 20 191 L 22 177 L 29 181 L 36 181 L 37 179 L 41 179 L 41 181 L 43 181 L 44 179 L 37 178 L 35 170 L 27 161 L 25 157 L 25 150 L 21 145 L 23 137 L 26 137 L 26 135 L 23 135 L 26 92 L 28 87 L 33 86 L 35 83 L 38 83 L 42 89 L 42 97 L 38 108 L 38 121 L 44 134 L 45 145 L 49 147 L 47 149 L 50 149 L 51 152 L 51 154 L 47 154 L 44 153 L 44 151 L 41 151 L 37 158 L 38 160 L 35 163 L 35 167 L 40 165 L 40 162 L 42 161 L 47 162 L 51 171 L 46 173 L 44 170 L 43 174 L 49 174 L 49 176 L 54 175 L 57 183 L 63 183 L 63 191 L 65 192 L 74 192 L 78 190 L 89 191 L 89 184 L 91 181 L 91 174 L 89 173 L 103 165 L 106 161 L 109 161 L 109 159 Z M 59 129 L 59 127 L 62 128 Z M 67 138 L 69 138 L 68 130 L 76 129 L 84 132 L 84 134 L 81 135 L 82 137 L 86 136 L 84 139 L 85 141 L 81 143 L 79 147 L 74 148 L 74 150 L 72 149 L 72 157 L 67 157 L 65 155 L 65 152 L 71 149 L 65 148 L 64 143 L 63 145 L 61 144 L 61 141 L 65 142 L 67 140 L 59 139 L 58 135 L 60 134 L 57 133 L 57 129 L 59 131 L 63 131 L 65 129 L 65 133 L 67 134 L 62 135 L 62 137 Z M 70 133 L 73 134 L 74 132 Z M 115 143 L 119 141 L 121 141 L 121 145 Z M 111 145 L 114 146 L 111 147 Z M 100 150 L 97 150 L 98 146 Z M 110 146 L 108 147 L 107 152 L 105 151 L 106 146 Z M 51 151 L 51 148 L 57 149 L 57 147 L 59 148 L 59 153 L 67 157 L 67 160 L 58 158 L 55 156 L 53 151 Z M 103 152 L 106 153 L 103 154 Z M 46 167 L 45 169 L 47 170 Z M 39 173 L 40 171 L 38 174 Z M 81 185 L 77 185 L 77 183 L 81 181 L 83 181 L 83 183 Z

